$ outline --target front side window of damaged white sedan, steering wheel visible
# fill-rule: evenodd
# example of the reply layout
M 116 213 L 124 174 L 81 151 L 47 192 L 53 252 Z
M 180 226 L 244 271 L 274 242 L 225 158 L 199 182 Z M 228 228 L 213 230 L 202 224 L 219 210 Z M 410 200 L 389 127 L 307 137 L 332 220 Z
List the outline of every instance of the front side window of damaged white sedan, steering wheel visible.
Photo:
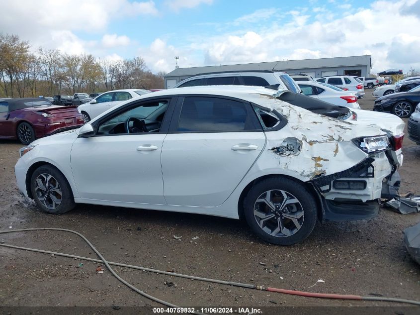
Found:
M 142 103 L 100 123 L 98 135 L 159 132 L 168 101 Z

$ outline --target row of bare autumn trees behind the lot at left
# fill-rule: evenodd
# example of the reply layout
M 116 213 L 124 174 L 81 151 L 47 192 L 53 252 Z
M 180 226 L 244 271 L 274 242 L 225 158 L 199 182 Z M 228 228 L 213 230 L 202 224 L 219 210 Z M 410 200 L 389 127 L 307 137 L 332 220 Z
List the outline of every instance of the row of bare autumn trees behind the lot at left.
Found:
M 0 33 L 0 97 L 38 97 L 163 89 L 164 72 L 153 74 L 141 57 L 111 61 L 91 54 L 67 54 Z

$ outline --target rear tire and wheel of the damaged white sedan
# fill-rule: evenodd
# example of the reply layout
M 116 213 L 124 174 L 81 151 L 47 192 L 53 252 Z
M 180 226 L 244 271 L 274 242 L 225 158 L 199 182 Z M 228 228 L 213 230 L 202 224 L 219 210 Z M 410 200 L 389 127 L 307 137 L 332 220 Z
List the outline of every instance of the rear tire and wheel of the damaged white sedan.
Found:
M 268 203 L 262 202 L 264 199 Z M 284 205 L 285 201 L 288 204 Z M 317 221 L 314 196 L 304 185 L 283 177 L 256 183 L 245 198 L 244 212 L 252 231 L 264 241 L 276 245 L 291 245 L 304 240 Z

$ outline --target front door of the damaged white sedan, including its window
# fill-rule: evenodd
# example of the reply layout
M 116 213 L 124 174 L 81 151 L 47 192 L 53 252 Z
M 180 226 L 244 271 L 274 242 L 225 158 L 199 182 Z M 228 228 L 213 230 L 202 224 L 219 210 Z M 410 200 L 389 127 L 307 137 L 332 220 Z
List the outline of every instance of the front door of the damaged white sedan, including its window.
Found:
M 165 204 L 161 152 L 167 134 L 170 99 L 133 102 L 110 112 L 92 126 L 95 134 L 73 143 L 71 168 L 83 199 L 123 203 Z M 173 106 L 172 106 L 173 107 Z M 162 111 L 160 128 L 144 132 L 142 124 L 151 112 Z M 129 132 L 125 129 L 128 122 Z

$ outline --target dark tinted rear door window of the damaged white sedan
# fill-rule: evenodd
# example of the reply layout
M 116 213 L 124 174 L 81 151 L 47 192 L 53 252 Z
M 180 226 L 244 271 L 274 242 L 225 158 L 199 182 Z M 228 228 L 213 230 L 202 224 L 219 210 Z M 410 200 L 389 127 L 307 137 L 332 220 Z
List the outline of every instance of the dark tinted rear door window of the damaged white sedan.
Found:
M 178 131 L 255 130 L 248 122 L 245 104 L 219 98 L 185 98 L 178 121 Z

